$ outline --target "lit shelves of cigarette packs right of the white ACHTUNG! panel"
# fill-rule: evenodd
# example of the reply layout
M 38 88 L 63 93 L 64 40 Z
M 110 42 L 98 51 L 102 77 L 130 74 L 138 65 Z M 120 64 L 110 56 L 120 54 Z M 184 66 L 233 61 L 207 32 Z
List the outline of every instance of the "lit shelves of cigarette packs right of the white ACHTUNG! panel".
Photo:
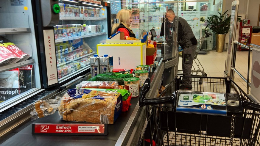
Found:
M 108 18 L 105 6 L 63 0 L 59 5 L 60 21 L 54 29 L 58 79 L 62 82 L 90 68 L 89 57 L 96 53 L 96 44 L 108 38 Z

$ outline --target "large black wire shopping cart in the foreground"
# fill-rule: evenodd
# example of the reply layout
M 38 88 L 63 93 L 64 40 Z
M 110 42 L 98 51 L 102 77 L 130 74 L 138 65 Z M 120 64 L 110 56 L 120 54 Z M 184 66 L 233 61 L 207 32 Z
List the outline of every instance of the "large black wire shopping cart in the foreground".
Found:
M 177 76 L 158 98 L 145 98 L 150 89 L 148 78 L 142 89 L 139 106 L 146 105 L 151 137 L 157 145 L 178 146 L 260 146 L 260 106 L 229 78 L 190 76 L 193 92 L 240 94 L 242 112 L 227 115 L 183 113 L 176 111 L 176 97 L 182 76 Z M 203 85 L 198 84 L 203 78 Z M 196 86 L 197 85 L 197 86 Z M 178 96 L 177 96 L 178 97 Z M 151 140 L 152 141 L 152 140 Z

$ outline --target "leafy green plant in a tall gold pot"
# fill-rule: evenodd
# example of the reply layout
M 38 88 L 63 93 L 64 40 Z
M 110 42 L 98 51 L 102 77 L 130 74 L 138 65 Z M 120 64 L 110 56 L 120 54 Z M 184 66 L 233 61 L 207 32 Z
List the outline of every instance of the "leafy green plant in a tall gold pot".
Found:
M 225 43 L 225 36 L 229 32 L 231 15 L 227 14 L 228 10 L 223 14 L 213 15 L 207 17 L 207 19 L 200 18 L 200 21 L 207 22 L 205 28 L 211 29 L 216 34 L 216 51 L 223 52 L 223 46 Z M 238 21 L 241 21 L 241 16 L 238 16 Z

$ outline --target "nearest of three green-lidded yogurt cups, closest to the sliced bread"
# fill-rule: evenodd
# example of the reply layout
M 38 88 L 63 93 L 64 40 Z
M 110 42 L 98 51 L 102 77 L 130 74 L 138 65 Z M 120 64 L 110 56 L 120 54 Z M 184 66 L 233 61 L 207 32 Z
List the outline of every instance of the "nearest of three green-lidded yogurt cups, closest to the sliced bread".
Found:
M 124 86 L 132 94 L 132 97 L 138 97 L 139 95 L 139 78 L 125 78 Z

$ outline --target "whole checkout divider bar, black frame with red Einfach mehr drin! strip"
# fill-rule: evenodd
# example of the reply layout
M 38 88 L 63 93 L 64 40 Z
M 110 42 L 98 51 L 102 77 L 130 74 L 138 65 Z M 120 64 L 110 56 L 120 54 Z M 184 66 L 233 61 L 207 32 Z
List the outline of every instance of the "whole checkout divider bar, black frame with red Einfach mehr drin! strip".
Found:
M 32 124 L 33 135 L 107 135 L 105 124 Z

